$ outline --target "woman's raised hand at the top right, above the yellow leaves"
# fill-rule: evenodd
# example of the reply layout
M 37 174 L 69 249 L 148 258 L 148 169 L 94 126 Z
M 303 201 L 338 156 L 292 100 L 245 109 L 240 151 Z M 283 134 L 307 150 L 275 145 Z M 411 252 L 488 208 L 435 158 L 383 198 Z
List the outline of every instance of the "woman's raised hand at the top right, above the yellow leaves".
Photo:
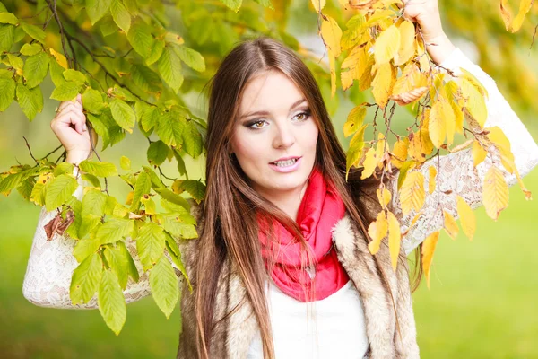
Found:
M 456 48 L 448 39 L 439 14 L 438 0 L 403 0 L 404 17 L 421 26 L 431 59 L 440 64 Z

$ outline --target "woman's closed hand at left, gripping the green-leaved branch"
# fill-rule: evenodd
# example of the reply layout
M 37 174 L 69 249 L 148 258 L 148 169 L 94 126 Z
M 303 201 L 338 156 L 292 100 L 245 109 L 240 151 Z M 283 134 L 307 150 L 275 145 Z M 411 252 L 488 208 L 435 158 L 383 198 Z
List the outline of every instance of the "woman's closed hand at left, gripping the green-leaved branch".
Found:
M 76 101 L 62 101 L 58 106 L 56 117 L 50 122 L 50 128 L 60 140 L 67 153 L 66 162 L 81 162 L 91 153 L 90 133 L 83 113 L 82 96 L 77 94 Z M 94 145 L 97 134 L 91 130 Z

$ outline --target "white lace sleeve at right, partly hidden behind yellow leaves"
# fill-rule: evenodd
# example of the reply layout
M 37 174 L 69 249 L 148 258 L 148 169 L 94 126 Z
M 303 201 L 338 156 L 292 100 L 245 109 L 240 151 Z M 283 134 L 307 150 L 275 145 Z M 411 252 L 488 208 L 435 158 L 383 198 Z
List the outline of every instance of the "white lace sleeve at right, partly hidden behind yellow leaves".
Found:
M 484 127 L 498 126 L 503 130 L 510 141 L 517 171 L 519 171 L 521 177 L 528 174 L 538 163 L 538 145 L 499 92 L 495 81 L 484 73 L 480 66 L 473 64 L 469 58 L 465 57 L 459 48 L 456 48 L 440 66 L 454 71 L 455 74 L 460 74 L 459 67 L 463 67 L 482 83 L 489 94 L 486 102 L 488 118 Z M 428 182 L 428 168 L 434 166 L 438 170 L 438 186 L 432 194 L 426 192 L 422 215 L 404 237 L 402 245 L 407 255 L 421 241 L 424 241 L 430 233 L 443 227 L 444 219 L 442 211 L 438 211 L 439 203 L 443 209 L 454 215 L 455 218 L 457 218 L 456 195 L 463 197 L 473 209 L 482 206 L 482 180 L 490 169 L 492 162 L 499 163 L 500 160 L 499 151 L 495 147 L 491 146 L 489 152 L 492 153 L 492 156 L 488 156 L 476 168 L 473 166 L 471 149 L 440 156 L 439 165 L 436 158 L 432 158 L 422 165 L 419 171 L 424 174 L 426 182 Z M 500 166 L 500 169 L 508 182 L 508 186 L 516 184 L 516 175 L 505 171 L 502 166 Z M 426 188 L 427 185 L 428 183 L 425 183 Z M 407 215 L 402 213 L 396 187 L 397 180 L 394 180 L 392 191 L 395 196 L 393 197 L 392 205 L 395 216 L 401 223 L 402 231 L 404 232 L 409 228 L 412 219 L 417 213 L 414 209 Z M 450 195 L 441 193 L 449 189 L 452 190 Z

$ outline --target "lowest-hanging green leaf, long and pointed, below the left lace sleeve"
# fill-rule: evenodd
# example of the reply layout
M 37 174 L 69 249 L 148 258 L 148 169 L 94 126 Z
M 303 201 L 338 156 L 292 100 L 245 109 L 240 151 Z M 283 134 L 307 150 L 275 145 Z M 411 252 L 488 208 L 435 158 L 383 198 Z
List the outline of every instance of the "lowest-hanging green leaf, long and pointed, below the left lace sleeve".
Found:
M 108 328 L 118 335 L 126 322 L 126 298 L 119 286 L 117 276 L 105 270 L 101 277 L 97 303 Z

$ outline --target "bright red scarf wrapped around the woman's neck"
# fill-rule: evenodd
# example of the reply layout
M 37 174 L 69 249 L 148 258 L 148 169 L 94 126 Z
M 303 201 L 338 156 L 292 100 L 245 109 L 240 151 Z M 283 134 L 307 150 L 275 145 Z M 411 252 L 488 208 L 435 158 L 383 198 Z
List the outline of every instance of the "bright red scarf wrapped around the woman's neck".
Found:
M 266 238 L 266 223 L 258 220 L 259 238 L 265 265 L 274 257 L 271 276 L 283 293 L 300 302 L 322 300 L 335 293 L 349 276 L 336 257 L 331 230 L 345 213 L 343 200 L 315 167 L 299 206 L 297 223 L 300 232 L 313 253 L 315 268 L 308 267 L 306 250 L 300 241 L 279 221 L 273 221 L 276 242 Z M 301 258 L 308 270 L 301 270 Z M 310 295 L 314 291 L 313 296 Z

